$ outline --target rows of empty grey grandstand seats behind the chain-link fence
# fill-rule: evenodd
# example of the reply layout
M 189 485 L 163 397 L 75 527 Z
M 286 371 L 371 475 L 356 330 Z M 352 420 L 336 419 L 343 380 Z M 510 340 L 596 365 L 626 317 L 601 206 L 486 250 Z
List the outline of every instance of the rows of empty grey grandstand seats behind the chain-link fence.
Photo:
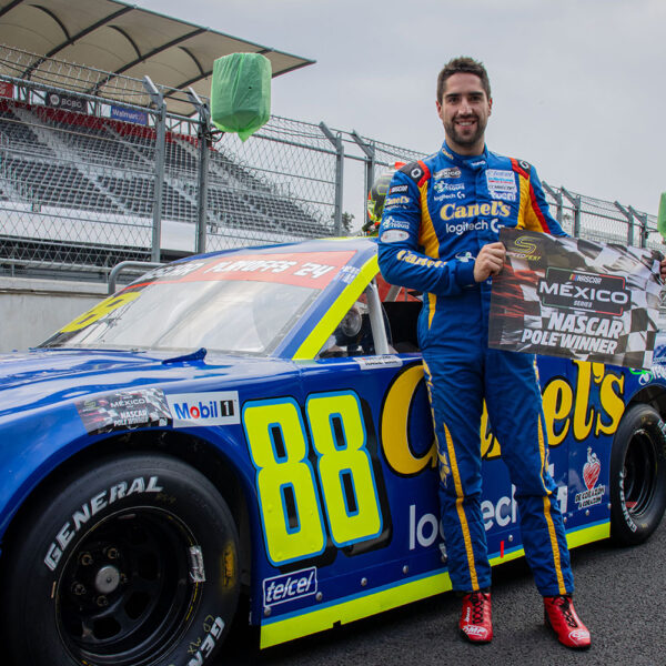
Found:
M 151 128 L 0 100 L 0 196 L 19 204 L 151 219 L 154 141 Z M 167 132 L 165 149 L 163 218 L 191 222 L 196 219 L 198 139 Z M 303 238 L 329 232 L 223 152 L 213 148 L 210 157 L 212 223 Z

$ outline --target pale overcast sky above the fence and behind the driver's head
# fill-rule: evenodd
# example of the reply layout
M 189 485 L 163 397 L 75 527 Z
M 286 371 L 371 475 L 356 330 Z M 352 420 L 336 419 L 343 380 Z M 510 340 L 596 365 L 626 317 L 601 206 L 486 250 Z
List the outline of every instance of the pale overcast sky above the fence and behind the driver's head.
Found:
M 434 152 L 436 77 L 484 62 L 491 150 L 554 186 L 656 214 L 666 191 L 664 0 L 134 0 L 316 60 L 276 77 L 276 115 Z

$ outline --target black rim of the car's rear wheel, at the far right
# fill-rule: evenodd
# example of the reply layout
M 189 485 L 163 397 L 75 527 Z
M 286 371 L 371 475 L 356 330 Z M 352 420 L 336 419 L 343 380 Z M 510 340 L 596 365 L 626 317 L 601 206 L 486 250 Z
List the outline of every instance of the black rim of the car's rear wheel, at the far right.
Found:
M 656 470 L 655 444 L 646 431 L 637 431 L 627 447 L 623 467 L 625 506 L 632 516 L 639 516 L 649 507 Z

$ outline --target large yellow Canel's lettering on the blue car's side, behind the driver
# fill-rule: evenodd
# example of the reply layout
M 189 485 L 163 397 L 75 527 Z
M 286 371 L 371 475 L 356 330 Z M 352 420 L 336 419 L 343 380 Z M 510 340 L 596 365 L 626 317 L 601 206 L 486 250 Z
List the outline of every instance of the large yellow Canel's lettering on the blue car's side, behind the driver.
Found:
M 545 425 L 551 447 L 559 446 L 571 433 L 585 441 L 592 432 L 612 435 L 625 410 L 623 400 L 625 377 L 608 371 L 603 363 L 574 362 L 577 373 L 572 383 L 555 377 L 542 391 Z M 410 441 L 410 420 L 416 391 L 424 381 L 423 367 L 411 365 L 398 373 L 389 389 L 382 408 L 382 451 L 389 466 L 401 476 L 414 476 L 437 464 L 437 448 L 432 446 L 415 454 Z M 487 411 L 481 420 L 481 450 L 486 460 L 502 455 L 500 443 L 490 428 Z

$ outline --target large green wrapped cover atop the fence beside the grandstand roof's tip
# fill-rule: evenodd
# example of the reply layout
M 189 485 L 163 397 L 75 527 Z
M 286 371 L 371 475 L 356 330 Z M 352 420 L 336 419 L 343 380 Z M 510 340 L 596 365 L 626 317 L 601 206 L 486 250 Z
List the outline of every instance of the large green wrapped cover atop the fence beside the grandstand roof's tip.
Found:
M 271 62 L 260 53 L 231 53 L 213 63 L 211 118 L 245 141 L 271 118 Z

